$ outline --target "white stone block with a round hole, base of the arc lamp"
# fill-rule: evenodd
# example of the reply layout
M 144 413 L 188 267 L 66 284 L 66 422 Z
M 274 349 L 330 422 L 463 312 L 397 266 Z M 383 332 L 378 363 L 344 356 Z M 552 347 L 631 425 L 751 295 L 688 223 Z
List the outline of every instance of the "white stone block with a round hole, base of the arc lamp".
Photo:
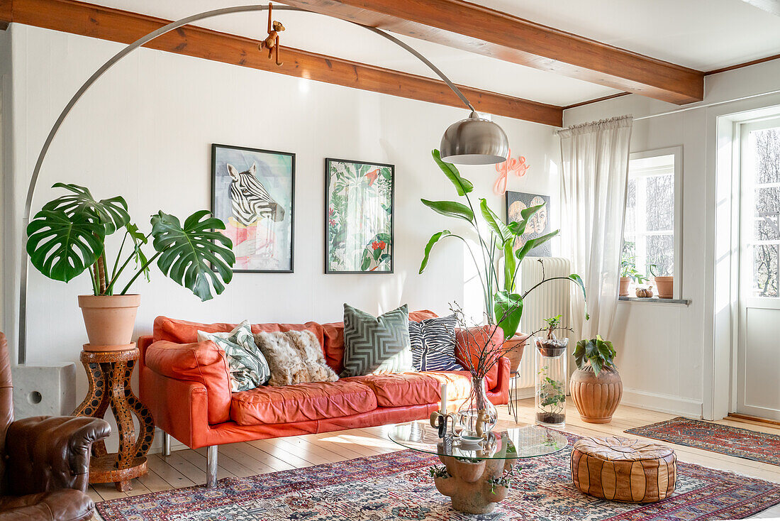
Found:
M 70 416 L 76 409 L 76 364 L 16 366 L 13 379 L 13 416 Z

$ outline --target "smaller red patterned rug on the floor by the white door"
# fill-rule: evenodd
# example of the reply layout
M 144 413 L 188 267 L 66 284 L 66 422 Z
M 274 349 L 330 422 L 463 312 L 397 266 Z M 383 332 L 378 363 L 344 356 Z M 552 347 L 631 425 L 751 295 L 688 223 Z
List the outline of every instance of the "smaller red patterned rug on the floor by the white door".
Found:
M 776 434 L 683 417 L 636 427 L 626 432 L 737 458 L 780 465 L 780 436 Z

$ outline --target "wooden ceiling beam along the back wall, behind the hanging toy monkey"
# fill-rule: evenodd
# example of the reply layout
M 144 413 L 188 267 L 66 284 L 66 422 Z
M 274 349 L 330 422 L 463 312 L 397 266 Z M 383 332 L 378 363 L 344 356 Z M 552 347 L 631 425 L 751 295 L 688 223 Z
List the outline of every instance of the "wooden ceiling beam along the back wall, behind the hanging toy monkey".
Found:
M 0 8 L 9 2 L 11 0 L 0 0 Z M 5 11 L 6 23 L 23 23 L 126 44 L 168 23 L 167 20 L 153 16 L 73 0 L 12 0 L 12 9 Z M 0 9 L 0 20 L 3 14 L 3 10 Z M 282 45 L 284 65 L 276 66 L 273 60 L 267 59 L 257 50 L 258 43 L 258 40 L 247 37 L 202 27 L 185 26 L 163 34 L 145 47 L 364 91 L 466 108 L 440 80 L 302 51 L 284 45 Z M 563 124 L 561 107 L 472 87 L 459 86 L 459 88 L 480 112 L 554 127 Z

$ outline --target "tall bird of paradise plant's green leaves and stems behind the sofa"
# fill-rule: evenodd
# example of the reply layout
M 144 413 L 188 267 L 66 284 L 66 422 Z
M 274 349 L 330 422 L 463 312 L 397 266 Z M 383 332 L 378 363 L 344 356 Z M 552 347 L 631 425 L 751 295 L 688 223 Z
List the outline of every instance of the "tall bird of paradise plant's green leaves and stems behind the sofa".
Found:
M 465 204 L 456 201 L 429 201 L 420 199 L 428 208 L 438 212 L 443 216 L 462 219 L 470 224 L 473 235 L 477 238 L 480 245 L 480 258 L 473 252 L 466 238 L 453 234 L 449 230 L 441 230 L 431 236 L 431 239 L 425 246 L 423 261 L 420 263 L 420 273 L 425 270 L 431 250 L 434 245 L 445 237 L 454 237 L 466 244 L 466 249 L 470 252 L 474 264 L 477 266 L 480 283 L 484 293 L 484 308 L 488 323 L 496 324 L 504 331 L 505 338 L 511 338 L 516 334 L 520 324 L 520 318 L 523 316 L 523 299 L 542 284 L 551 280 L 569 280 L 576 284 L 583 292 L 585 297 L 585 285 L 582 278 L 576 273 L 568 277 L 549 277 L 527 289 L 523 293 L 516 287 L 517 271 L 520 263 L 523 262 L 528 252 L 537 248 L 541 244 L 549 241 L 552 237 L 558 235 L 560 230 L 555 230 L 549 234 L 528 239 L 522 248 L 515 250 L 514 244 L 517 237 L 521 237 L 526 232 L 526 227 L 532 216 L 538 212 L 544 205 L 531 206 L 520 212 L 519 222 L 506 224 L 493 210 L 488 207 L 488 201 L 480 198 L 480 215 L 484 224 L 487 225 L 489 232 L 486 234 L 480 230 L 480 223 L 477 220 L 477 212 L 471 202 L 469 194 L 474 186 L 471 182 L 460 175 L 456 166 L 449 162 L 441 160 L 438 150 L 432 152 L 434 161 L 439 166 L 445 176 L 452 182 L 458 195 L 465 199 Z M 504 257 L 503 277 L 499 277 L 498 259 L 500 255 Z M 585 318 L 588 319 L 587 311 Z

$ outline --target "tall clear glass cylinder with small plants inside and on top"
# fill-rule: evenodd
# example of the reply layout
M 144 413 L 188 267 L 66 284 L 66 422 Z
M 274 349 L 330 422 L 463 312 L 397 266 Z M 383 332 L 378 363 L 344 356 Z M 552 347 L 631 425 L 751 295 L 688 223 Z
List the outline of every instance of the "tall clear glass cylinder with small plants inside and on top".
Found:
M 546 337 L 534 337 L 536 347 L 536 422 L 547 426 L 566 425 L 566 347 L 568 338 L 555 337 L 561 327 L 561 316 L 545 319 Z

